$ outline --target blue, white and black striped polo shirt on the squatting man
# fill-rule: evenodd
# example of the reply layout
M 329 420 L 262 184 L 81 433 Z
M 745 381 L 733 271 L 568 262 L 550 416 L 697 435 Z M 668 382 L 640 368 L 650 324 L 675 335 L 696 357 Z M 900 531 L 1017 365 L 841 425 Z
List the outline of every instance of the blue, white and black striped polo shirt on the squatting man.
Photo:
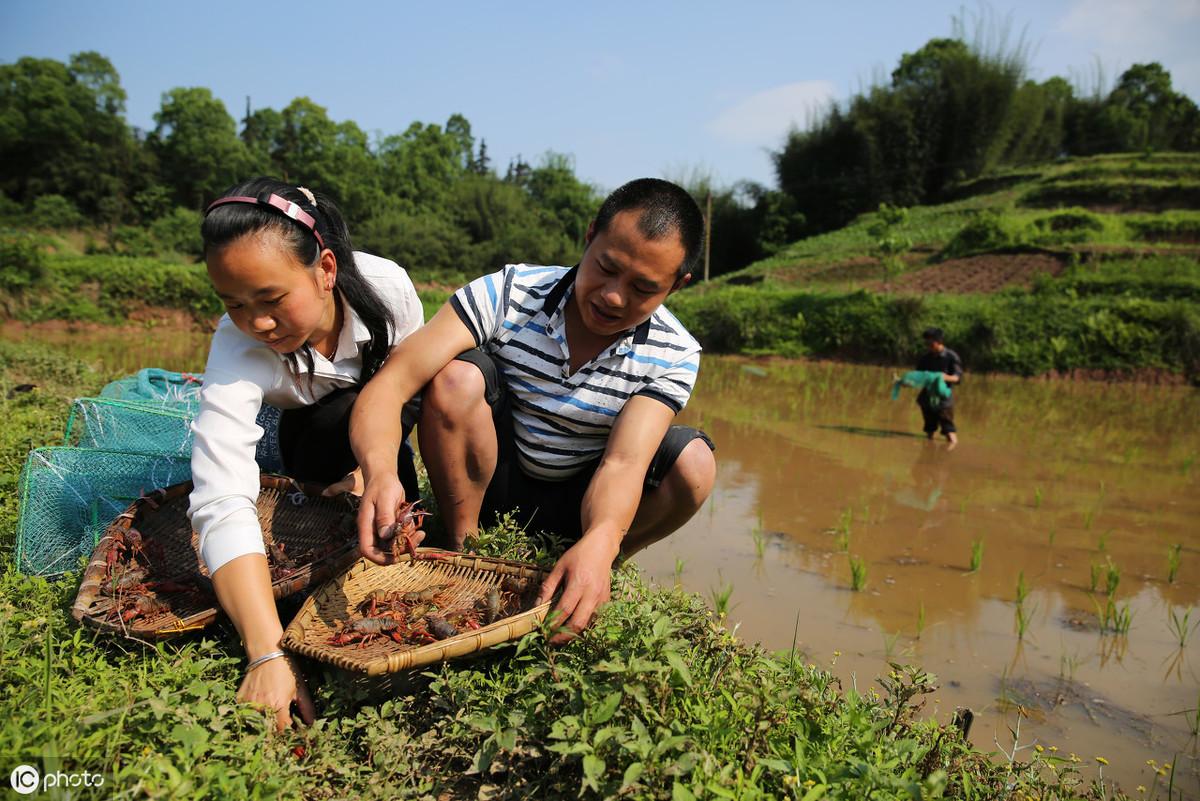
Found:
M 569 375 L 564 313 L 576 270 L 510 264 L 450 299 L 504 375 L 521 468 L 552 481 L 600 458 L 630 397 L 683 409 L 700 368 L 700 343 L 660 306 Z

